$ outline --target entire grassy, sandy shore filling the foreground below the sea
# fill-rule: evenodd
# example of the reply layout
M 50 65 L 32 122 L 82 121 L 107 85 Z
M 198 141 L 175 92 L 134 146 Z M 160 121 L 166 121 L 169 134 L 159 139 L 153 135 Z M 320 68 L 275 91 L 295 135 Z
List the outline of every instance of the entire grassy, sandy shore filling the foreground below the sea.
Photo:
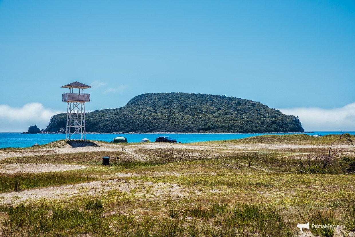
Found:
M 192 144 L 92 141 L 98 146 L 80 149 L 58 141 L 38 147 L 42 153 L 37 156 L 33 148 L 30 156 L 23 156 L 26 149 L 0 150 L 2 157 L 13 152 L 0 166 L 85 164 L 90 168 L 73 173 L 93 179 L 73 181 L 77 187 L 70 195 L 60 194 L 68 185 L 50 182 L 22 190 L 12 186 L 0 194 L 0 236 L 289 237 L 301 234 L 297 223 L 307 222 L 343 225 L 303 229 L 307 236 L 353 236 L 355 176 L 344 173 L 353 169 L 355 155 L 346 138 L 289 134 Z M 323 169 L 322 153 L 335 140 L 339 152 Z M 58 153 L 44 155 L 42 149 Z M 71 152 L 60 153 L 67 149 Z M 103 156 L 111 157 L 109 166 L 102 165 Z M 299 170 L 308 173 L 277 173 Z M 46 198 L 54 191 L 58 196 Z M 26 193 L 38 198 L 26 199 Z

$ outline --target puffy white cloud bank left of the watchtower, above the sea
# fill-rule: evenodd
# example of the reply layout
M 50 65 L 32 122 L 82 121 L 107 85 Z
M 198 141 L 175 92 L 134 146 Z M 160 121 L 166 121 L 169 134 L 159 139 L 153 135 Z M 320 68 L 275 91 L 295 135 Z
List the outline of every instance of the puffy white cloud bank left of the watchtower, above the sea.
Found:
M 28 103 L 22 108 L 0 104 L 0 132 L 27 131 L 31 125 L 45 129 L 50 118 L 62 112 L 45 109 L 40 103 Z

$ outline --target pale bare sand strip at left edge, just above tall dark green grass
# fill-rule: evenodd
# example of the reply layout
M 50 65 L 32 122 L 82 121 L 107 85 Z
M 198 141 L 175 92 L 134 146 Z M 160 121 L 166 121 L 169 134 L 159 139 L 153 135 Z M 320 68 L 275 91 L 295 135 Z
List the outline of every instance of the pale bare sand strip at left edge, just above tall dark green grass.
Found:
M 28 163 L 15 163 L 15 164 L 4 164 L 0 166 L 0 173 L 16 173 L 16 172 L 24 172 L 24 173 L 41 173 L 41 172 L 52 172 L 52 171 L 67 171 L 74 169 L 84 169 L 88 168 L 88 166 L 81 165 L 62 165 L 62 164 L 51 164 L 51 163 L 43 163 L 43 164 L 28 164 Z

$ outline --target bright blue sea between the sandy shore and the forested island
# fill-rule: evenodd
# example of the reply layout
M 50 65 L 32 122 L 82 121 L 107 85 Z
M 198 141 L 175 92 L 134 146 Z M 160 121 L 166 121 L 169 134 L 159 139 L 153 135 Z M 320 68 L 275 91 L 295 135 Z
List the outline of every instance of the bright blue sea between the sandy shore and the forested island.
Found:
M 344 133 L 344 132 L 343 132 Z M 348 132 L 355 135 L 355 131 Z M 154 141 L 158 136 L 170 136 L 176 139 L 178 142 L 200 142 L 200 141 L 216 141 L 216 140 L 230 140 L 241 139 L 250 136 L 259 136 L 271 133 L 246 133 L 246 134 L 86 134 L 87 140 L 98 141 L 112 141 L 117 136 L 124 136 L 128 142 L 140 142 L 143 138 L 148 138 Z M 275 134 L 275 133 L 273 133 Z M 279 135 L 285 133 L 277 133 Z M 340 134 L 340 131 L 316 131 L 315 133 L 306 133 L 307 135 L 328 135 L 328 134 Z M 0 148 L 5 147 L 28 147 L 35 143 L 40 145 L 65 139 L 65 134 L 21 134 L 21 133 L 0 133 Z

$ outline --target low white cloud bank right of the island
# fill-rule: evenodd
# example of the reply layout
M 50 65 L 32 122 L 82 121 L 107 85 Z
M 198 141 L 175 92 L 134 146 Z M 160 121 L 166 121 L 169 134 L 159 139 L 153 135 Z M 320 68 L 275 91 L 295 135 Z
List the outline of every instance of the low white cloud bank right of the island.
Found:
M 355 103 L 342 108 L 285 108 L 284 114 L 298 116 L 306 131 L 355 131 Z

